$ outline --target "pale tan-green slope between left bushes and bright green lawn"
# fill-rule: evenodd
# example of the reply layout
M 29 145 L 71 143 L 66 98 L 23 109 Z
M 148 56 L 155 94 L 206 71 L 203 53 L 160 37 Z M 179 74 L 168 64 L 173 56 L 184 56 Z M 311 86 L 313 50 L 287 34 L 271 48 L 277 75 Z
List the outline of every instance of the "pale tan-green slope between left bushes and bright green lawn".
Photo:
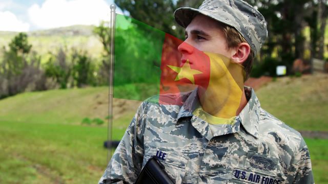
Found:
M 114 101 L 114 119 L 127 115 L 129 123 L 137 101 Z M 79 125 L 84 118 L 108 116 L 108 87 L 48 90 L 19 94 L 0 101 L 0 121 Z

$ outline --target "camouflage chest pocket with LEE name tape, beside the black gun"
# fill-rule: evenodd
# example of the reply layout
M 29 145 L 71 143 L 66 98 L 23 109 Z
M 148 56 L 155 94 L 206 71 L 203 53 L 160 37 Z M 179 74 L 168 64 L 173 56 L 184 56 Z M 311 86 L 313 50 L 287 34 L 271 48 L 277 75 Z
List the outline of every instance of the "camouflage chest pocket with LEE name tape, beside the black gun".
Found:
M 152 157 L 157 156 L 158 160 L 165 166 L 165 171 L 169 174 L 174 183 L 181 183 L 186 174 L 188 159 L 185 155 L 175 151 L 168 151 L 163 148 L 148 146 L 145 148 L 145 156 L 142 168 Z

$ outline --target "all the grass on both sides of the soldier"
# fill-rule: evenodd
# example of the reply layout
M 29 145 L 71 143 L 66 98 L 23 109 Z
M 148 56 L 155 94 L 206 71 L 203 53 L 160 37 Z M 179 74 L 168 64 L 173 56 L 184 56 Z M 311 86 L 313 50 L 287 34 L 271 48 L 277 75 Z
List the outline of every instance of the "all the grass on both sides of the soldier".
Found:
M 263 108 L 299 130 L 327 131 L 328 78 L 279 78 L 256 91 Z M 283 96 L 283 97 L 281 97 Z M 51 90 L 0 101 L 0 183 L 96 183 L 107 165 L 108 88 Z M 136 101 L 114 101 L 113 137 L 130 123 Z M 328 183 L 328 140 L 305 138 L 316 183 Z

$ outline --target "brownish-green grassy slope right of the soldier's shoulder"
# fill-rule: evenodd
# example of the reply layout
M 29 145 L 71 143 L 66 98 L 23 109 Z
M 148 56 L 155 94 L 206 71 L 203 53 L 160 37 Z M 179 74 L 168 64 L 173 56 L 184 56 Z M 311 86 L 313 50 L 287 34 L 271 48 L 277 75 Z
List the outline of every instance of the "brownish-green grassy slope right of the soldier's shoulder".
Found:
M 278 78 L 256 94 L 261 106 L 297 130 L 328 131 L 328 75 Z

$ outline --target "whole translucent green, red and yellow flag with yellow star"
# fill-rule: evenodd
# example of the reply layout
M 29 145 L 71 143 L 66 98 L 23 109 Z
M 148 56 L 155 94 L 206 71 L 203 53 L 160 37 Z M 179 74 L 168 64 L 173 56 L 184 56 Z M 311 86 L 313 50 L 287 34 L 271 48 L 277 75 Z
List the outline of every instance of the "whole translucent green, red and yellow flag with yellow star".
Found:
M 188 50 L 189 52 L 183 52 Z M 243 68 L 215 53 L 193 48 L 176 37 L 138 20 L 116 15 L 114 98 L 182 105 L 181 99 L 163 98 L 199 89 L 199 99 L 219 97 L 221 117 L 235 116 L 243 90 Z M 211 90 L 209 90 L 211 89 Z M 213 90 L 214 89 L 214 90 Z

